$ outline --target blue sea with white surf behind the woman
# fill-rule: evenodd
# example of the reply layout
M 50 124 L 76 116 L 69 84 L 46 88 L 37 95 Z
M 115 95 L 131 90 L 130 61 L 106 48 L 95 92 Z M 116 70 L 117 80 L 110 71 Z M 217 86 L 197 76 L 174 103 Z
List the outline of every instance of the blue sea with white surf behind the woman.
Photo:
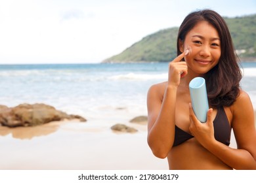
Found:
M 242 63 L 242 88 L 256 109 L 256 63 Z M 0 105 L 45 103 L 89 121 L 127 122 L 146 115 L 152 84 L 167 80 L 168 63 L 0 65 Z

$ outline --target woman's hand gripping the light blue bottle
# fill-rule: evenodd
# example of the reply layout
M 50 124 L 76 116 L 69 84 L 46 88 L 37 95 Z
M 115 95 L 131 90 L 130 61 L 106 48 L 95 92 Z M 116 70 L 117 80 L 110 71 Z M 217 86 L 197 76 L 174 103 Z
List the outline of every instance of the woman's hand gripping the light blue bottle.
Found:
M 213 108 L 210 108 L 207 111 L 207 120 L 205 123 L 202 123 L 196 118 L 194 110 L 191 103 L 189 103 L 189 112 L 190 112 L 190 133 L 196 138 L 202 146 L 206 146 L 207 143 L 215 141 L 214 137 L 214 127 L 213 127 Z

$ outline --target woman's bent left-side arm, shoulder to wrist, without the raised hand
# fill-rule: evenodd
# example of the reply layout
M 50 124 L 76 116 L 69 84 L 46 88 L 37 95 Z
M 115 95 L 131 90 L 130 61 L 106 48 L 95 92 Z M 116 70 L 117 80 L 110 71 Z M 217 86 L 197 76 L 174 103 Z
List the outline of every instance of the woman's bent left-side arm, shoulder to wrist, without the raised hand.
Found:
M 175 134 L 175 101 L 177 88 L 166 88 L 160 98 L 161 86 L 148 91 L 148 145 L 158 158 L 166 158 L 173 146 Z

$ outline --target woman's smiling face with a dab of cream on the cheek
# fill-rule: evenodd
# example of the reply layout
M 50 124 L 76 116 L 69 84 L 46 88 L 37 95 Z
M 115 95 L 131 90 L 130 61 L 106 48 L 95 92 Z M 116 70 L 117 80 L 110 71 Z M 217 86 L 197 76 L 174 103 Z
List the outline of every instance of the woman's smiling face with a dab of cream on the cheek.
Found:
M 221 57 L 221 40 L 219 33 L 209 22 L 201 21 L 191 29 L 180 46 L 181 52 L 188 47 L 192 52 L 185 56 L 188 73 L 205 74 L 211 70 Z

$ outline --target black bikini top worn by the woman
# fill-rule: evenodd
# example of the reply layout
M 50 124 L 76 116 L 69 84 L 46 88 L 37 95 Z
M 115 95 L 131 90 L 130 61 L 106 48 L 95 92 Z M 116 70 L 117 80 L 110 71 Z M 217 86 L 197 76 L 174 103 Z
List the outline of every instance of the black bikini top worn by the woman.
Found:
M 226 117 L 226 113 L 223 107 L 218 108 L 217 115 L 213 121 L 213 127 L 215 139 L 219 142 L 222 142 L 223 144 L 226 144 L 226 146 L 229 146 L 231 127 L 228 123 L 228 118 Z M 175 139 L 173 146 L 178 146 L 179 144 L 182 144 L 183 142 L 192 138 L 194 138 L 194 136 L 186 133 L 186 131 L 183 131 L 177 127 L 177 125 L 175 125 Z

